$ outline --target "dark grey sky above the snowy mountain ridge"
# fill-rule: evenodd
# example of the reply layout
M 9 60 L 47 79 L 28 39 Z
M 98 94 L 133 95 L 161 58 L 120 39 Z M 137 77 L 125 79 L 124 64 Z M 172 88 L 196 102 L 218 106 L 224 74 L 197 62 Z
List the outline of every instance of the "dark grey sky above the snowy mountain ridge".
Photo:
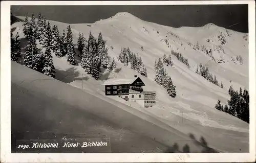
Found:
M 208 23 L 248 33 L 248 5 L 154 5 L 154 6 L 12 6 L 13 15 L 38 17 L 69 24 L 93 23 L 118 12 L 170 27 L 201 27 Z

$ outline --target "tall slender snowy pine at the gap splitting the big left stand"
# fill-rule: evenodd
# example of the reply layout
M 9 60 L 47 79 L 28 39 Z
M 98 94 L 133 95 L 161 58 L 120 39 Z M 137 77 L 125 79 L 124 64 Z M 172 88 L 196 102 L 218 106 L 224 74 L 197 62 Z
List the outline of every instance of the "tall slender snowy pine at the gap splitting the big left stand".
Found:
M 72 65 L 76 64 L 75 61 L 75 46 L 73 44 L 73 34 L 70 25 L 67 27 L 67 57 L 68 62 Z

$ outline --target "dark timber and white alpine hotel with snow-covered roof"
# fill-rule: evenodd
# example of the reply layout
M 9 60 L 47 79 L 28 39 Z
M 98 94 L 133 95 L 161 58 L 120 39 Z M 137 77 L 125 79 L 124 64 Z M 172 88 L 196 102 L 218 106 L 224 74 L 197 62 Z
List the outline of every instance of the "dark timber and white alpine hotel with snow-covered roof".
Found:
M 156 104 L 155 91 L 143 91 L 143 81 L 134 76 L 133 79 L 109 79 L 104 82 L 106 96 L 118 96 L 126 101 L 135 101 L 148 108 Z

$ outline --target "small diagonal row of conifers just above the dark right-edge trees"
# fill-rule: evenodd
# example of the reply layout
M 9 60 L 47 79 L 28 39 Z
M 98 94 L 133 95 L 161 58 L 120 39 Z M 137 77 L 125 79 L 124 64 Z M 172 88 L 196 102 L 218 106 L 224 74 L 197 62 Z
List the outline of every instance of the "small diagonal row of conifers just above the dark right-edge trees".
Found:
M 219 87 L 223 88 L 223 83 L 218 82 L 216 75 L 213 76 L 209 72 L 209 68 L 207 66 L 204 66 L 200 63 L 199 66 L 197 65 L 196 73 L 204 77 L 204 79 L 208 80 L 209 82 L 214 83 L 215 85 L 218 85 Z

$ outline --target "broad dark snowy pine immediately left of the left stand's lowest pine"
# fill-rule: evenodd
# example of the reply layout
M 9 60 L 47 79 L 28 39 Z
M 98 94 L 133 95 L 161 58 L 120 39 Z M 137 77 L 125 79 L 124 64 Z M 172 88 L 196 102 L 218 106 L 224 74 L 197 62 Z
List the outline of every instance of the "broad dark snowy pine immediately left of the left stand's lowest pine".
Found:
M 35 38 L 29 39 L 28 44 L 25 47 L 23 65 L 37 70 L 40 56 L 40 49 L 37 48 Z

